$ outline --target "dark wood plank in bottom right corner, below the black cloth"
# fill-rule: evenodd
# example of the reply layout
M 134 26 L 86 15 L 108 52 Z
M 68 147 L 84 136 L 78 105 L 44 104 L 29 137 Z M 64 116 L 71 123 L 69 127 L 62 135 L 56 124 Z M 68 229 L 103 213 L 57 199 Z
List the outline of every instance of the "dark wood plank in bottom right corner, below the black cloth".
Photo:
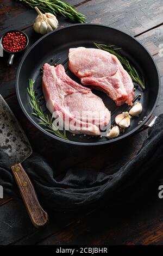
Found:
M 38 244 L 162 245 L 162 217 L 162 202 L 155 195 L 145 202 L 97 210 Z

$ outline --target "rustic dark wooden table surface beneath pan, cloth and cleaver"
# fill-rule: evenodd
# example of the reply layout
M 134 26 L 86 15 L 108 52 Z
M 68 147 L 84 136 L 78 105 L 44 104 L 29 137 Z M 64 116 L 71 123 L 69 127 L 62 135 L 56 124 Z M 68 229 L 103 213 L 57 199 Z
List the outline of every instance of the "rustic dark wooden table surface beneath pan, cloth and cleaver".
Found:
M 159 45 L 163 42 L 163 2 L 162 0 L 71 0 L 68 1 L 87 15 L 87 22 L 108 25 L 134 36 L 153 55 L 163 83 L 163 57 Z M 22 29 L 29 36 L 29 46 L 40 38 L 33 31 L 32 23 L 36 13 L 33 9 L 15 0 L 0 2 L 1 35 L 9 29 Z M 68 19 L 60 18 L 59 25 L 70 25 Z M 18 105 L 15 95 L 15 75 L 21 57 L 15 58 L 14 65 L 8 68 L 0 58 L 0 93 L 7 100 L 12 111 L 22 124 L 32 143 L 34 151 L 51 160 L 57 154 L 55 145 L 46 143 L 42 147 L 42 133 L 29 123 Z M 154 114 L 163 112 L 163 91 Z M 133 157 L 147 137 L 143 131 L 128 139 L 125 144 L 109 146 L 103 152 L 71 156 L 58 154 L 60 162 L 56 169 L 64 172 L 70 167 L 103 168 L 106 159 L 117 161 L 121 154 L 122 162 Z M 127 149 L 129 148 L 129 149 Z M 51 152 L 51 154 L 49 154 Z M 150 188 L 149 188 L 150 189 Z M 121 213 L 121 214 L 120 214 Z M 5 195 L 0 201 L 0 244 L 1 245 L 161 245 L 163 244 L 163 204 L 157 196 L 146 202 L 133 202 L 125 206 L 80 212 L 79 214 L 54 214 L 49 224 L 37 230 L 31 224 L 22 202 L 15 202 Z

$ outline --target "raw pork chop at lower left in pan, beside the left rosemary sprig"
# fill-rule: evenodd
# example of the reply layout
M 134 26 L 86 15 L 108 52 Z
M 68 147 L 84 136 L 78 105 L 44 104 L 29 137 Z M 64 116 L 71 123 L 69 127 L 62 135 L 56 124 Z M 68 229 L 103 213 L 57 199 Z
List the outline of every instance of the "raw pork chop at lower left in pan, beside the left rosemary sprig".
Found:
M 57 113 L 66 130 L 100 135 L 99 127 L 110 121 L 110 112 L 102 99 L 90 88 L 74 82 L 62 65 L 55 68 L 46 63 L 43 66 L 42 89 L 47 108 L 52 114 Z

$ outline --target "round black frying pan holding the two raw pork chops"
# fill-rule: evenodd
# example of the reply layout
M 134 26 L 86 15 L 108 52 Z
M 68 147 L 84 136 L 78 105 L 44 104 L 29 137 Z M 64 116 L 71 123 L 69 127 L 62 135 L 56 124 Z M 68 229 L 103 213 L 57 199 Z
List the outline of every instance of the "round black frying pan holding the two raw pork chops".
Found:
M 97 138 L 83 135 L 72 136 L 70 132 L 67 132 L 67 137 L 70 141 L 58 138 L 50 132 L 47 132 L 43 126 L 38 124 L 38 118 L 32 115 L 32 108 L 29 104 L 29 96 L 27 93 L 28 79 L 35 80 L 35 90 L 38 96 L 42 95 L 40 68 L 44 63 L 49 64 L 63 64 L 67 74 L 73 79 L 79 82 L 70 70 L 67 68 L 68 64 L 68 50 L 72 47 L 95 47 L 93 42 L 99 42 L 106 45 L 116 45 L 121 47 L 121 53 L 126 56 L 131 63 L 135 66 L 136 70 L 145 78 L 146 89 L 143 92 L 140 87 L 136 87 L 135 100 L 137 95 L 142 94 L 140 102 L 143 106 L 143 111 L 140 117 L 133 118 L 131 125 L 126 129 L 125 133 L 121 134 L 115 139 L 107 139 L 105 137 Z M 43 36 L 40 40 L 29 48 L 25 56 L 23 57 L 20 66 L 18 67 L 16 76 L 16 93 L 20 106 L 27 115 L 28 119 L 42 132 L 46 133 L 52 138 L 59 141 L 77 144 L 77 145 L 99 145 L 112 143 L 119 141 L 122 138 L 132 135 L 138 131 L 151 117 L 152 112 L 156 106 L 160 94 L 160 79 L 158 69 L 154 63 L 151 54 L 143 47 L 140 42 L 132 38 L 131 36 L 118 31 L 117 29 L 110 28 L 102 25 L 74 25 L 66 28 L 59 29 L 48 35 Z M 109 99 L 107 95 L 102 92 L 93 91 L 93 93 L 102 97 L 105 106 L 111 111 L 111 121 L 114 121 L 117 114 L 126 111 L 127 105 L 124 104 L 121 107 L 117 107 L 115 103 Z M 47 112 L 45 101 L 41 102 L 44 111 Z M 139 121 L 146 117 L 141 124 Z

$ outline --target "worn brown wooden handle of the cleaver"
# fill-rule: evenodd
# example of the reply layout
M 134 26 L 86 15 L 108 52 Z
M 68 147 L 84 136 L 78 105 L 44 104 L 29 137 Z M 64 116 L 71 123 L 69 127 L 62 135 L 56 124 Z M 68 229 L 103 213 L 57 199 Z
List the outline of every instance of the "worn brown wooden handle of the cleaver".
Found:
M 48 214 L 41 208 L 34 186 L 32 185 L 26 171 L 22 167 L 21 163 L 11 166 L 11 170 L 32 223 L 37 228 L 45 225 L 48 222 Z

